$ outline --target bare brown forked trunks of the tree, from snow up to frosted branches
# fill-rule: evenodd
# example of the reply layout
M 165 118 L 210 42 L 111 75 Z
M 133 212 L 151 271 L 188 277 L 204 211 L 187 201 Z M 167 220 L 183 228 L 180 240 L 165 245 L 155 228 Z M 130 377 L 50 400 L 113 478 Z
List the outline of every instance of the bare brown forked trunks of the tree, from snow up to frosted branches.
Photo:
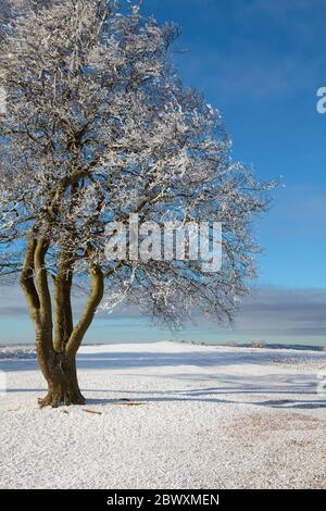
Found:
M 38 363 L 48 383 L 48 395 L 39 400 L 39 404 L 41 408 L 84 404 L 85 398 L 77 378 L 76 353 L 102 300 L 104 276 L 100 267 L 89 263 L 91 292 L 78 323 L 74 326 L 71 301 L 73 267 L 66 252 L 62 251 L 58 274 L 54 276 L 53 328 L 52 297 L 46 266 L 48 249 L 49 242 L 43 238 L 38 239 L 36 232 L 29 233 L 21 276 L 21 285 L 35 326 Z

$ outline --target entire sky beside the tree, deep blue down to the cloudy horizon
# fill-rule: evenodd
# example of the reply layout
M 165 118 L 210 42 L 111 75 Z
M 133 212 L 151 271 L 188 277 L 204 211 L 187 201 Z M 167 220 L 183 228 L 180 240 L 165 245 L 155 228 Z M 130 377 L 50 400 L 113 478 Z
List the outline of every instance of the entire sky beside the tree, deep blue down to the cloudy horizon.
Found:
M 184 83 L 223 113 L 234 157 L 284 184 L 255 226 L 265 251 L 260 292 L 243 304 L 236 329 L 199 323 L 181 337 L 326 346 L 326 114 L 316 111 L 316 91 L 326 86 L 326 0 L 145 0 L 142 12 L 181 26 L 172 58 Z M 1 292 L 0 344 L 32 340 L 23 299 Z M 88 340 L 139 337 L 171 335 L 122 310 L 101 317 Z

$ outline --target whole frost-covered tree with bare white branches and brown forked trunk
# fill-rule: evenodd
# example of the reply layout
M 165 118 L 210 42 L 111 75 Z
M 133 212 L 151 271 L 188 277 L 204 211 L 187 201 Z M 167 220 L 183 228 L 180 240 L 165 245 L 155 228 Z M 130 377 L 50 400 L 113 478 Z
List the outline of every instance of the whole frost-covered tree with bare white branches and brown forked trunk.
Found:
M 175 25 L 115 0 L 23 4 L 1 29 L 0 274 L 21 275 L 48 383 L 40 404 L 58 407 L 85 401 L 75 358 L 101 302 L 174 325 L 193 310 L 231 317 L 269 185 L 231 160 L 218 112 L 175 75 Z M 222 270 L 108 260 L 105 228 L 130 213 L 140 225 L 222 222 Z M 73 285 L 90 286 L 76 322 Z

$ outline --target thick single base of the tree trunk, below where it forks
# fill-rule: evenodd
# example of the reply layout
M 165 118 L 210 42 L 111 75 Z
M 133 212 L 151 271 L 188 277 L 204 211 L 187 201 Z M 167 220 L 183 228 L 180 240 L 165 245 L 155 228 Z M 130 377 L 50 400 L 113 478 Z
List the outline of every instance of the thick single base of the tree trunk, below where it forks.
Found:
M 45 360 L 42 353 L 38 352 L 38 362 L 48 383 L 47 396 L 38 401 L 41 408 L 85 404 L 78 385 L 75 357 L 53 352 L 50 360 Z

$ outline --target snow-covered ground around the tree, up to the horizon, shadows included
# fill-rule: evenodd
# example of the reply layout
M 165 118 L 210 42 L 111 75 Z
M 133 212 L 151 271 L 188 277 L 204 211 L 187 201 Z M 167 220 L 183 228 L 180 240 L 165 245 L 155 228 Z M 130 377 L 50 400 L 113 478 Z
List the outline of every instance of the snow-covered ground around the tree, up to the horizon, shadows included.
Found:
M 1 350 L 1 488 L 326 488 L 326 352 L 115 345 L 78 366 L 87 406 L 39 410 L 33 351 Z

